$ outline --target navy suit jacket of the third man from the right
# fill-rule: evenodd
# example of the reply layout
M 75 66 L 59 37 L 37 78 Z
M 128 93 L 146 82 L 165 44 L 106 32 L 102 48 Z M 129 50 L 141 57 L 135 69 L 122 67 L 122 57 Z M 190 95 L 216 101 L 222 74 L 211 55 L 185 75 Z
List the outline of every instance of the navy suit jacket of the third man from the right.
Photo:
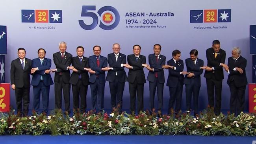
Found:
M 196 84 L 201 86 L 201 77 L 200 75 L 203 73 L 203 69 L 201 69 L 201 66 L 204 66 L 204 61 L 202 59 L 197 58 L 196 64 L 194 61 L 192 61 L 191 58 L 188 58 L 185 60 L 186 66 L 187 66 L 187 72 L 192 72 L 195 74 L 195 76 L 188 78 L 187 74 L 184 79 L 184 84 L 189 85 L 191 83 L 191 80 L 194 80 Z

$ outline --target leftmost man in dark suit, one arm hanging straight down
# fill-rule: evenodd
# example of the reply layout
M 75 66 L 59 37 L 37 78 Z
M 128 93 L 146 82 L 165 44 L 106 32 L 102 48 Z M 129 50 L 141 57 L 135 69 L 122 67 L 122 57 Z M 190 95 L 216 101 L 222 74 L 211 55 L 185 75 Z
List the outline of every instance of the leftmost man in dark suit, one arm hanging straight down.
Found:
M 11 88 L 15 90 L 17 114 L 22 114 L 23 102 L 23 116 L 28 115 L 28 105 L 30 102 L 30 72 L 31 59 L 25 58 L 26 50 L 24 48 L 18 49 L 17 59 L 11 61 Z

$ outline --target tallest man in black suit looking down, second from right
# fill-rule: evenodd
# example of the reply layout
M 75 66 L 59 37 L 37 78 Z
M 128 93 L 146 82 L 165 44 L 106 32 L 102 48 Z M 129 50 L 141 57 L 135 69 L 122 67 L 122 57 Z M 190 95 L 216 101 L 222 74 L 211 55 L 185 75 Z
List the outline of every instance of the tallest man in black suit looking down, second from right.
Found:
M 212 47 L 206 50 L 207 67 L 204 73 L 207 85 L 208 103 L 210 107 L 214 107 L 216 116 L 221 112 L 221 90 L 223 67 L 225 65 L 226 52 L 221 49 L 221 44 L 218 40 L 212 42 Z M 215 93 L 215 106 L 214 106 L 214 93 Z

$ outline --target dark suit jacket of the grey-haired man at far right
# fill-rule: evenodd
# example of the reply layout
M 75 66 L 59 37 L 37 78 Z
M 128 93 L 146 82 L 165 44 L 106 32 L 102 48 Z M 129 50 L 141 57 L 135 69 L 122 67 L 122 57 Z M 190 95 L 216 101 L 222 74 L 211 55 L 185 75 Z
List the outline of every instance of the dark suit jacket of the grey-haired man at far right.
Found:
M 229 75 L 228 75 L 228 85 L 231 83 L 231 81 L 234 80 L 235 85 L 237 87 L 242 87 L 244 85 L 247 85 L 247 78 L 246 78 L 246 72 L 245 67 L 247 64 L 247 60 L 240 55 L 240 57 L 236 60 L 232 59 L 232 57 L 228 58 L 228 68 L 229 68 Z M 240 74 L 238 71 L 233 70 L 234 68 L 242 68 L 243 74 Z

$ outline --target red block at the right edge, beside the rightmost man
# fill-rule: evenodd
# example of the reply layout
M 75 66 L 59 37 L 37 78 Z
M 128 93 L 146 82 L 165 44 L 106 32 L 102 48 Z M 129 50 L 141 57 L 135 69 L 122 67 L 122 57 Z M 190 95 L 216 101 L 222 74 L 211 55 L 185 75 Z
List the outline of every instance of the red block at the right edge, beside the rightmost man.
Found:
M 256 84 L 249 83 L 249 113 L 256 113 Z

